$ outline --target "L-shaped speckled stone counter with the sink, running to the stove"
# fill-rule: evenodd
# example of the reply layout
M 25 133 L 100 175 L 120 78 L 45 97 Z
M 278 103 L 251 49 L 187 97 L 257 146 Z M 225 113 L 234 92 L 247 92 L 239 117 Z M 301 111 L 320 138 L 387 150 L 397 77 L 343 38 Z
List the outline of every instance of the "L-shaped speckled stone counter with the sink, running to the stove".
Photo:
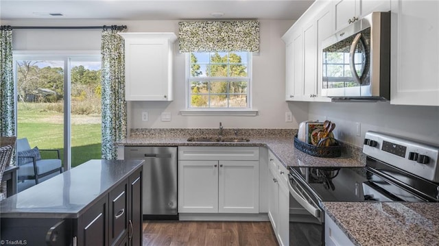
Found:
M 294 147 L 296 129 L 239 129 L 238 136 L 249 142 L 188 142 L 191 136 L 217 136 L 217 129 L 152 129 L 131 130 L 130 138 L 117 143 L 120 146 L 259 146 L 268 147 L 286 166 L 301 167 L 364 167 L 361 149 L 343 145 L 339 158 L 318 158 Z M 224 129 L 224 136 L 235 136 L 235 130 Z

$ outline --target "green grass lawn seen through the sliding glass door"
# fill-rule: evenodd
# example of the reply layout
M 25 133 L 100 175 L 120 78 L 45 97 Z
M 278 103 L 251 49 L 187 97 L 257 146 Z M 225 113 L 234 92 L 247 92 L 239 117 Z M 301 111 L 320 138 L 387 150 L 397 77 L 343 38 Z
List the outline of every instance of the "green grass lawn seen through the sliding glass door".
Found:
M 64 157 L 64 126 L 60 112 L 46 110 L 46 103 L 19 103 L 18 138 L 27 138 L 31 147 L 38 149 L 60 149 Z M 87 123 L 93 116 L 72 115 L 71 167 L 91 159 L 101 158 L 101 123 Z M 74 119 L 80 120 L 75 123 Z M 42 158 L 55 158 L 54 151 L 41 151 Z

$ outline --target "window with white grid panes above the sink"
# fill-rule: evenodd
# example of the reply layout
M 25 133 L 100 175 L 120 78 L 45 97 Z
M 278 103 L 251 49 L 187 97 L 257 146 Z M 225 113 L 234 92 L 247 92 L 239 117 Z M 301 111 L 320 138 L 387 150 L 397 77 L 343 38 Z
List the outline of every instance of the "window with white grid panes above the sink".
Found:
M 250 52 L 187 53 L 187 108 L 250 109 Z

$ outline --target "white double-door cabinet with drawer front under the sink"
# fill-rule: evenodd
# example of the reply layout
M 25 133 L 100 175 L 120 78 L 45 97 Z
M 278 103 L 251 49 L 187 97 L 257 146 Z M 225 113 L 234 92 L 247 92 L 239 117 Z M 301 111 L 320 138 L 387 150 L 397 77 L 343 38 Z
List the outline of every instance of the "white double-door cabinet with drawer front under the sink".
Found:
M 178 159 L 178 212 L 259 212 L 259 147 L 180 147 Z

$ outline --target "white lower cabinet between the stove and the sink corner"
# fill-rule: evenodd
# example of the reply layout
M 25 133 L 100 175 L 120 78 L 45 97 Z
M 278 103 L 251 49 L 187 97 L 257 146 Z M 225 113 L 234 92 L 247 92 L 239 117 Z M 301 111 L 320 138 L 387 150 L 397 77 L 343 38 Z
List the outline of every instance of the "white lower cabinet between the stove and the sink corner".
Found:
M 279 245 L 289 245 L 289 190 L 288 172 L 272 152 L 268 153 L 270 196 L 268 217 Z

